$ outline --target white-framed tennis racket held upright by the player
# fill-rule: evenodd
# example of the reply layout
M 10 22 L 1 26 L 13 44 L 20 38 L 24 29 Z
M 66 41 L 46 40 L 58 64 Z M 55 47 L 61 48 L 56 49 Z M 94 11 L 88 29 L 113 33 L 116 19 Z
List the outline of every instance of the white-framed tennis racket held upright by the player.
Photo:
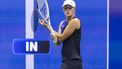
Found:
M 47 0 L 36 0 L 36 6 L 37 6 L 38 13 L 42 17 L 42 19 L 45 20 L 46 25 L 48 25 L 48 28 L 50 29 L 50 33 L 55 35 L 50 22 L 49 7 L 48 7 Z M 57 38 L 55 38 L 53 42 L 54 43 L 57 42 Z

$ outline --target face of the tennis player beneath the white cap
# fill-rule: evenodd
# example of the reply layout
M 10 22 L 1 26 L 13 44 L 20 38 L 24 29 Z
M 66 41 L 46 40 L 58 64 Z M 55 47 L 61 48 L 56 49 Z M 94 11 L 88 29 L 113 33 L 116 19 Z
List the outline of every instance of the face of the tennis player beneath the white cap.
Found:
M 63 7 L 65 16 L 72 16 L 75 12 L 75 8 L 70 5 L 65 5 Z

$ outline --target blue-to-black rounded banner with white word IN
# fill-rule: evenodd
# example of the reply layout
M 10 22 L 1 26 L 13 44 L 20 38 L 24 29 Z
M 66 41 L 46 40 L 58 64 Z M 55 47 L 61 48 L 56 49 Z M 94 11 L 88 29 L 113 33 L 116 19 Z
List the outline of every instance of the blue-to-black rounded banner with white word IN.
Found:
M 50 43 L 48 40 L 38 39 L 14 39 L 14 54 L 39 54 L 49 53 Z

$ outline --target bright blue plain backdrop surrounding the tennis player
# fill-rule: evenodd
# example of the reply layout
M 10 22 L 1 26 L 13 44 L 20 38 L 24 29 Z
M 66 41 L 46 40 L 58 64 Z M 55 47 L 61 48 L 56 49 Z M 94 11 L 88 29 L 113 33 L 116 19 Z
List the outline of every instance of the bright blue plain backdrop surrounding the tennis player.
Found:
M 47 0 L 53 28 L 65 19 L 64 0 Z M 107 67 L 107 0 L 75 0 L 81 20 L 83 69 Z M 35 9 L 36 10 L 36 9 Z M 36 19 L 36 18 L 35 18 Z M 36 22 L 36 21 L 35 21 Z M 25 69 L 25 55 L 13 55 L 12 41 L 25 38 L 25 0 L 0 0 L 0 69 Z M 34 38 L 49 39 L 49 32 L 37 23 Z M 51 43 L 49 54 L 34 55 L 34 69 L 59 69 L 62 46 Z

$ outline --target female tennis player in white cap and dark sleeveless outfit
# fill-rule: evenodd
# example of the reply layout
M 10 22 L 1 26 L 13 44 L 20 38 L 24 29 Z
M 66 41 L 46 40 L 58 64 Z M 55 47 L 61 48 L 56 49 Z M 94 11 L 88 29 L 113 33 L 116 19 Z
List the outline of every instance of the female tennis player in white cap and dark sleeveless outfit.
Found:
M 57 44 L 63 43 L 60 69 L 82 69 L 81 24 L 75 16 L 76 3 L 74 0 L 65 0 L 62 8 L 66 19 L 60 22 L 58 32 L 55 32 L 56 35 L 51 35 L 52 40 L 57 37 Z M 46 27 L 44 20 L 40 20 L 40 24 Z

